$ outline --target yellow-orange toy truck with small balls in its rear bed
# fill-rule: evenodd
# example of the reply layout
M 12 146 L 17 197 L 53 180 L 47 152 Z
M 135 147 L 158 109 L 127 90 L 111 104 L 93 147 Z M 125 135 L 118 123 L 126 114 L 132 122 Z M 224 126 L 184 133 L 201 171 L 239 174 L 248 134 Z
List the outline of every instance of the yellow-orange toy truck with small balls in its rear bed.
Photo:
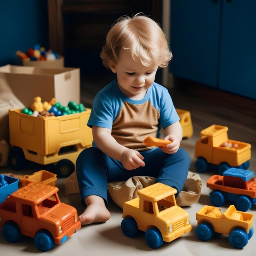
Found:
M 251 144 L 228 139 L 227 126 L 213 124 L 200 132 L 195 144 L 195 168 L 204 173 L 217 166 L 218 173 L 230 167 L 247 169 L 251 159 Z

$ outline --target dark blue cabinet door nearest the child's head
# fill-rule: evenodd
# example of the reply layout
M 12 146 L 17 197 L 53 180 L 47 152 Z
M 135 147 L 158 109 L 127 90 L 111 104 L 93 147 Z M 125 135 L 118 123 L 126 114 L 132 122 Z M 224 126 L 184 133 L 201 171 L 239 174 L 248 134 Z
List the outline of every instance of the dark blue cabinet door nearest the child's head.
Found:
M 219 26 L 220 0 L 172 0 L 169 72 L 216 87 Z

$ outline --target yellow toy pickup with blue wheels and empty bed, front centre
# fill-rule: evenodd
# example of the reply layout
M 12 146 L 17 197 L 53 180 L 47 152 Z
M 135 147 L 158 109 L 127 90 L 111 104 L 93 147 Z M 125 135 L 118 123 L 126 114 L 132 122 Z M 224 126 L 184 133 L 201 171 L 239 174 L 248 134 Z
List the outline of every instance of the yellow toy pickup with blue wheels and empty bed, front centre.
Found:
M 156 183 L 138 191 L 139 198 L 125 202 L 121 229 L 128 237 L 145 231 L 146 243 L 155 249 L 164 241 L 191 231 L 189 214 L 176 204 L 176 189 Z

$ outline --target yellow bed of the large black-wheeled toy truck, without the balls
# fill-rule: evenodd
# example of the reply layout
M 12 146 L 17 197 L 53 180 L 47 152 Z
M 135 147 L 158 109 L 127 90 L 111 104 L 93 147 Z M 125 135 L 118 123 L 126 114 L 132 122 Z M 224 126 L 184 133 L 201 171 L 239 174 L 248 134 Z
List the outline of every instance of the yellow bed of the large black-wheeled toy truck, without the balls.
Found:
M 91 110 L 59 117 L 32 117 L 21 110 L 9 110 L 10 144 L 34 154 L 52 155 L 67 146 L 92 144 L 86 125 Z

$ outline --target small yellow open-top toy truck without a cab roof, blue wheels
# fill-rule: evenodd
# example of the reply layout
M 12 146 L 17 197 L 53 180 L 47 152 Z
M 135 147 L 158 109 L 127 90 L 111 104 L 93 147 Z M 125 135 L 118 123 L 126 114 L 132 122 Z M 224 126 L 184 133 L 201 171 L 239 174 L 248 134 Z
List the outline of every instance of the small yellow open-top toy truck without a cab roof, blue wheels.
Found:
M 243 211 L 236 211 L 234 205 L 230 205 L 225 213 L 213 206 L 205 205 L 196 213 L 198 226 L 195 235 L 202 241 L 208 241 L 214 233 L 229 235 L 229 243 L 242 249 L 253 236 L 252 223 L 254 215 Z

